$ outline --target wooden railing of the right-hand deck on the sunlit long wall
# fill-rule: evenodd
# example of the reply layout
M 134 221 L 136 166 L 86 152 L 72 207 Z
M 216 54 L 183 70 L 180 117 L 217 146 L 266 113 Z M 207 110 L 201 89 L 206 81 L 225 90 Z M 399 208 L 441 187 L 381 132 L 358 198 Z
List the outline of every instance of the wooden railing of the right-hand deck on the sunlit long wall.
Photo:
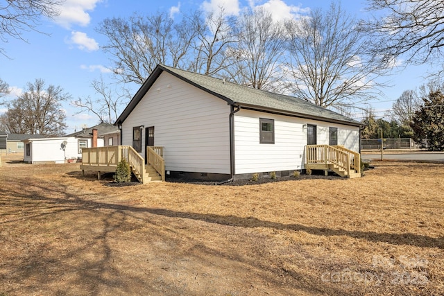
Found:
M 333 164 L 346 171 L 361 173 L 361 155 L 342 146 L 307 145 L 305 150 L 307 164 Z

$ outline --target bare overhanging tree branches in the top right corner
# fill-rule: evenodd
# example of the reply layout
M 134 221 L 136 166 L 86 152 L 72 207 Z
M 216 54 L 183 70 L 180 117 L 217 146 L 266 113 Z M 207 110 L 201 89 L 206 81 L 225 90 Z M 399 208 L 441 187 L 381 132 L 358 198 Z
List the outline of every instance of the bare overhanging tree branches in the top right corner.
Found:
M 442 0 L 368 0 L 368 9 L 382 16 L 367 22 L 375 33 L 374 51 L 387 60 L 402 55 L 422 64 L 443 60 L 444 2 Z M 443 69 L 440 69 L 443 71 Z

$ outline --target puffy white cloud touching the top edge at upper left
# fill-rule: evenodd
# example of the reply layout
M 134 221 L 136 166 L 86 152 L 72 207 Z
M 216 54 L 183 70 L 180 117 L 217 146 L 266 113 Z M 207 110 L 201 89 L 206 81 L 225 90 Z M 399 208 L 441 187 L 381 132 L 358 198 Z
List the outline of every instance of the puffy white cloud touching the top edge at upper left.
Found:
M 60 15 L 56 17 L 56 23 L 64 28 L 71 28 L 77 24 L 87 26 L 91 17 L 87 11 L 92 11 L 97 3 L 102 0 L 66 0 L 60 4 Z

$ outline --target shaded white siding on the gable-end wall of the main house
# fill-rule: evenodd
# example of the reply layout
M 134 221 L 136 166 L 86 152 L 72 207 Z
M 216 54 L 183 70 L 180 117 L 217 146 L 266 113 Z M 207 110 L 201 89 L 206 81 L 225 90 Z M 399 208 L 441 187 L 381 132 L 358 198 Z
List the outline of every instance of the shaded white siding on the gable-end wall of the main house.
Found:
M 165 169 L 230 173 L 230 106 L 201 89 L 162 72 L 122 124 L 123 145 L 133 145 L 133 128 L 154 126 L 154 145 L 164 147 Z M 145 130 L 142 157 L 145 157 Z

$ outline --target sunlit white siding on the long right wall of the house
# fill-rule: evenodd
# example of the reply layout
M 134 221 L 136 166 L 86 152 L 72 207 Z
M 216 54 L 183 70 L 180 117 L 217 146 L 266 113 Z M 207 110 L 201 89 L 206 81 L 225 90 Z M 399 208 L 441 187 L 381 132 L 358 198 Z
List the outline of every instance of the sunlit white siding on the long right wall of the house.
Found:
M 259 143 L 259 118 L 274 119 L 274 144 Z M 305 163 L 307 124 L 317 126 L 318 144 L 329 143 L 329 127 L 334 127 L 338 128 L 338 144 L 358 151 L 358 127 L 241 110 L 234 114 L 235 173 L 302 169 Z

